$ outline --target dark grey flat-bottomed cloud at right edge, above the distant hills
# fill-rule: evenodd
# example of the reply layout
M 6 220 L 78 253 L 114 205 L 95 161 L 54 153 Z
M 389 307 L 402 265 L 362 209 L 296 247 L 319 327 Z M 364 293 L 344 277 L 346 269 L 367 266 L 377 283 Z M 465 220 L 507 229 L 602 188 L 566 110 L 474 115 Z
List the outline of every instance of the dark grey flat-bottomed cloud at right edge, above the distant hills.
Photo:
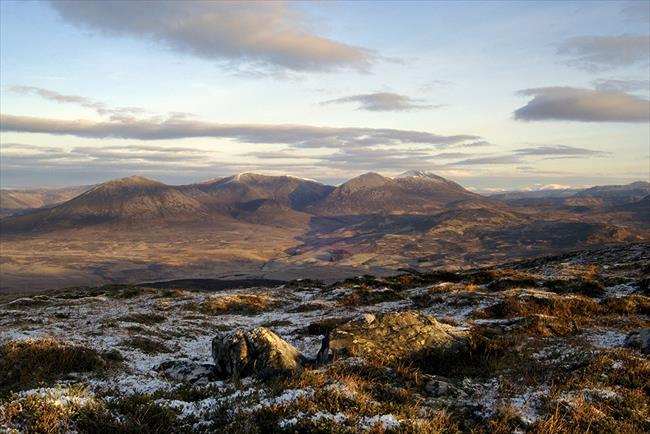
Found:
M 650 102 L 620 91 L 575 87 L 526 89 L 533 99 L 514 112 L 523 121 L 648 122 Z

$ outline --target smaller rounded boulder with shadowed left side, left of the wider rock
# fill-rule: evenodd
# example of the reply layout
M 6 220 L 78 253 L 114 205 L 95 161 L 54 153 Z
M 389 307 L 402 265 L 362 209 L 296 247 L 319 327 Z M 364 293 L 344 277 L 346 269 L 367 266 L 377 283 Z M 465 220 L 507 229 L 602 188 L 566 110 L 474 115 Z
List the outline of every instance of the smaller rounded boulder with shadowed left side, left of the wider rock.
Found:
M 304 361 L 300 351 L 266 327 L 215 337 L 212 357 L 217 371 L 233 379 L 250 375 L 268 378 L 293 372 Z

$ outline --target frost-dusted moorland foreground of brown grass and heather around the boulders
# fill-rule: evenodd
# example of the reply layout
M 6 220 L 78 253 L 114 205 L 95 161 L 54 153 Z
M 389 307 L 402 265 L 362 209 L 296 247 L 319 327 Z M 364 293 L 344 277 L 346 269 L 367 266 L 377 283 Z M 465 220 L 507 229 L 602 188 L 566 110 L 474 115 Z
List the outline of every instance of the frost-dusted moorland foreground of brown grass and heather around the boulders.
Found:
M 648 259 L 635 245 L 333 285 L 3 298 L 0 432 L 644 432 L 650 363 L 626 337 L 650 328 Z M 468 333 L 466 351 L 313 361 L 335 327 L 407 310 Z M 212 339 L 261 326 L 312 361 L 215 378 Z

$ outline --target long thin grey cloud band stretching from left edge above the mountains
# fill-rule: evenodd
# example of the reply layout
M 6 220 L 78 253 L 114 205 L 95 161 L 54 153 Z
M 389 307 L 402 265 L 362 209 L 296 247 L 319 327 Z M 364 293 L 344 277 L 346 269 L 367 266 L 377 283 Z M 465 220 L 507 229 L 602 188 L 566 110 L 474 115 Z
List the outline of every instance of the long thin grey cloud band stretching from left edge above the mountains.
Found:
M 61 120 L 0 115 L 0 131 L 72 135 L 87 138 L 137 140 L 214 137 L 245 143 L 281 143 L 302 148 L 339 148 L 398 144 L 439 147 L 474 142 L 468 134 L 443 136 L 423 131 L 387 128 L 335 128 L 310 125 L 218 124 L 185 118 L 122 119 L 113 122 Z

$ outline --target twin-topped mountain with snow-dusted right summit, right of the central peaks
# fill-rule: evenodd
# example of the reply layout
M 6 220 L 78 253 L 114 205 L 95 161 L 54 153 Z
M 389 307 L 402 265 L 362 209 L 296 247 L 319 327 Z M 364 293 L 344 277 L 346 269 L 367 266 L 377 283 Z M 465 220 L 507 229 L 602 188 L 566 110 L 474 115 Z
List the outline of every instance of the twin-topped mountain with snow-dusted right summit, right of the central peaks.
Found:
M 394 178 L 365 173 L 336 187 L 308 209 L 328 216 L 426 214 L 464 201 L 490 206 L 496 203 L 431 173 L 406 172 Z

